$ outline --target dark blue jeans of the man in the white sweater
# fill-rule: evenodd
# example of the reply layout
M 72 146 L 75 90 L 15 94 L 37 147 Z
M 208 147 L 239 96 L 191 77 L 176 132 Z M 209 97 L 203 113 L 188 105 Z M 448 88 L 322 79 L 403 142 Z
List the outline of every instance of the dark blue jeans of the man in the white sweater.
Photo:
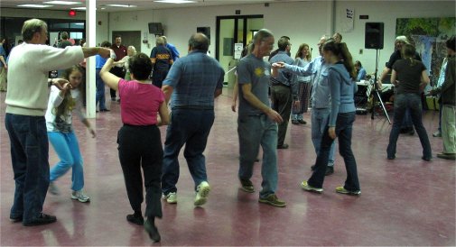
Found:
M 6 114 L 14 171 L 11 218 L 30 222 L 42 213 L 49 188 L 49 144 L 44 116 Z

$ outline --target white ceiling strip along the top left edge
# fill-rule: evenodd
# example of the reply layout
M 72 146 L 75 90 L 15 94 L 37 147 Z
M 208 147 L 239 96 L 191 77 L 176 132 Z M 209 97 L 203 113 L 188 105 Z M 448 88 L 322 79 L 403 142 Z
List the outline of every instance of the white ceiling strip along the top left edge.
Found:
M 43 4 L 50 0 L 0 0 L 0 7 L 2 8 L 27 8 L 18 7 L 17 5 L 50 5 Z M 78 5 L 52 5 L 51 7 L 40 8 L 44 10 L 70 10 L 72 7 L 85 7 L 88 0 L 63 0 L 79 2 Z M 248 4 L 265 4 L 265 3 L 278 3 L 278 2 L 303 2 L 310 0 L 195 0 L 198 3 L 192 4 L 164 4 L 156 3 L 153 0 L 97 0 L 97 10 L 104 12 L 119 12 L 119 11 L 135 11 L 146 9 L 160 9 L 160 8 L 174 8 L 174 7 L 196 7 L 196 6 L 210 6 L 210 5 L 248 5 Z M 136 5 L 137 7 L 123 8 L 112 7 L 107 5 Z M 101 8 L 105 8 L 101 10 Z M 33 8 L 36 9 L 36 8 Z

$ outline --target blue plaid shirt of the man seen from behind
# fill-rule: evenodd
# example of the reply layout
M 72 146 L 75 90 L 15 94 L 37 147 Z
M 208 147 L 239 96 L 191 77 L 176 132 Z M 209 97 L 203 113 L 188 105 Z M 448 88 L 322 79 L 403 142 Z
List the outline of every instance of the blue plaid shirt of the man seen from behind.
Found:
M 214 106 L 214 93 L 223 87 L 225 71 L 205 51 L 193 50 L 172 64 L 163 85 L 173 88 L 171 105 Z

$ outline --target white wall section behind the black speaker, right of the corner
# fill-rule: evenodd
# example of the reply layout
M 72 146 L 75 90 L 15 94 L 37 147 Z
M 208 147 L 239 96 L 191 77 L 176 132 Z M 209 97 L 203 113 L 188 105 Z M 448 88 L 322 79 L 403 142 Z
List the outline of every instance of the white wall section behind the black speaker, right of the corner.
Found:
M 353 32 L 340 32 L 345 8 L 355 9 Z M 376 50 L 364 49 L 365 23 L 385 23 L 384 49 L 379 50 L 378 75 L 385 68 L 396 39 L 396 18 L 454 17 L 454 1 L 337 1 L 335 31 L 342 34 L 354 60 L 359 60 L 368 73 L 375 72 Z M 359 20 L 359 14 L 368 14 L 368 20 Z M 363 54 L 359 54 L 359 50 Z

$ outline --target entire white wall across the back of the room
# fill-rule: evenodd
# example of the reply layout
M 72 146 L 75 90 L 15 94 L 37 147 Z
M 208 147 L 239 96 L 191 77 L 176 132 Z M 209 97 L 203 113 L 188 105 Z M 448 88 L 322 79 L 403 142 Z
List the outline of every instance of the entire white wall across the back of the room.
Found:
M 341 30 L 341 13 L 346 7 L 355 10 L 353 32 L 341 32 L 347 42 L 353 59 L 359 59 L 368 73 L 375 70 L 376 50 L 364 49 L 366 22 L 385 23 L 385 46 L 379 52 L 379 69 L 394 50 L 396 36 L 396 18 L 407 17 L 449 17 L 455 16 L 455 2 L 447 1 L 304 1 L 292 3 L 272 3 L 265 5 L 228 5 L 199 8 L 172 8 L 136 12 L 118 12 L 111 14 L 97 13 L 102 22 L 97 26 L 97 43 L 110 41 L 112 31 L 141 31 L 148 33 L 147 23 L 163 23 L 164 35 L 172 42 L 181 55 L 187 54 L 187 42 L 198 26 L 209 26 L 212 45 L 209 50 L 215 54 L 216 16 L 235 15 L 240 10 L 242 15 L 264 14 L 265 28 L 275 33 L 275 37 L 287 35 L 293 43 L 292 56 L 300 43 L 308 43 L 313 48 L 312 57 L 318 56 L 316 43 L 322 34 L 332 34 Z M 68 18 L 67 12 L 43 10 L 19 10 L 13 12 L 0 9 L 2 16 L 33 16 Z M 368 14 L 368 20 L 359 20 L 359 14 Z M 81 14 L 82 15 L 82 14 Z M 82 17 L 82 16 L 81 16 Z M 154 37 L 148 35 L 149 45 L 142 44 L 141 50 L 148 54 L 154 47 Z M 363 54 L 359 54 L 359 50 Z

